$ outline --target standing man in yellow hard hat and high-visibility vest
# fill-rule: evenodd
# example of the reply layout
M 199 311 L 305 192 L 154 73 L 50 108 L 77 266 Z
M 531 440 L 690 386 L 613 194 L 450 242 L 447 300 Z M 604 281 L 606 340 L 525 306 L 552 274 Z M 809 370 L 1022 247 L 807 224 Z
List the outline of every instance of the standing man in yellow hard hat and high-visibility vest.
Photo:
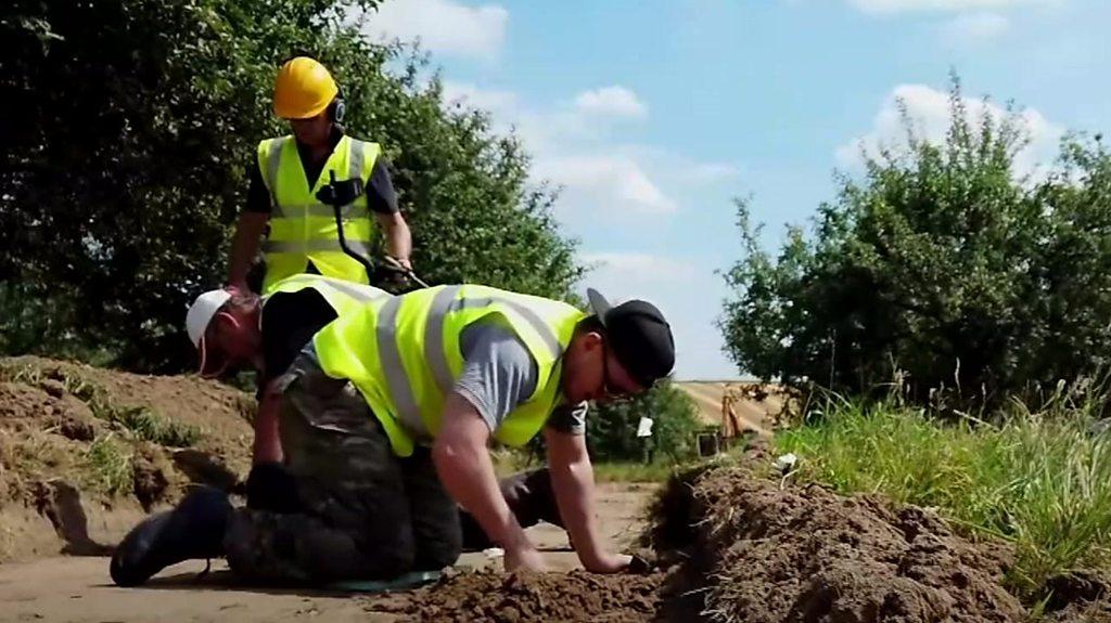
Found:
M 342 208 L 348 246 L 369 257 L 377 225 L 386 236 L 390 258 L 411 268 L 412 238 L 398 210 L 381 147 L 344 134 L 340 125 L 344 108 L 331 73 L 316 60 L 298 57 L 278 72 L 273 110 L 289 120 L 293 134 L 259 143 L 250 166 L 247 205 L 231 245 L 231 286 L 248 289 L 248 272 L 267 225 L 262 294 L 301 273 L 369 282 L 366 268 L 340 246 L 332 207 L 317 198 L 332 174 L 338 182 L 359 178 L 366 188 Z

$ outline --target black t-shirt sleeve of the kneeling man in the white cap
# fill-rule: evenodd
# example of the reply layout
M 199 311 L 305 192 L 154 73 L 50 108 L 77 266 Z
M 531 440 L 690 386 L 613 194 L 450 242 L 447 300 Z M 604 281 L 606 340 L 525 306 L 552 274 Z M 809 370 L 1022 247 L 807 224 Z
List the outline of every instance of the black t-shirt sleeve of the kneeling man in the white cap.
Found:
M 314 289 L 277 293 L 262 308 L 262 374 L 259 394 L 280 377 L 304 345 L 336 319 L 336 310 Z

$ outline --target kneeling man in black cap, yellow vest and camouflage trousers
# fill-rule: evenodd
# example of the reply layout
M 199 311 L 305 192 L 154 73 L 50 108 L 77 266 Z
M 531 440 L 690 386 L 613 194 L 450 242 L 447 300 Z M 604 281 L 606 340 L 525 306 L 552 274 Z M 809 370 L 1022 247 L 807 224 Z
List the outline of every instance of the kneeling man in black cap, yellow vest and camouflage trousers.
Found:
M 321 329 L 280 379 L 281 445 L 294 512 L 233 509 L 213 490 L 132 530 L 117 583 L 188 558 L 227 555 L 246 579 L 327 583 L 451 565 L 458 507 L 506 552 L 542 570 L 489 455 L 543 432 L 551 487 L 582 565 L 625 570 L 594 521 L 587 404 L 648 390 L 671 372 L 674 341 L 653 305 L 591 313 L 487 286 L 438 286 L 368 302 Z

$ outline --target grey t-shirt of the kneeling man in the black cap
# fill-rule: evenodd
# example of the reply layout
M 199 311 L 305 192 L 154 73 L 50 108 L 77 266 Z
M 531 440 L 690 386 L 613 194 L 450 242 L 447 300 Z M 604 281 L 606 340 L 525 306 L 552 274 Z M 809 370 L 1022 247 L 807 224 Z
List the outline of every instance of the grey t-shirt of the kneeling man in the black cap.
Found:
M 537 388 L 537 362 L 529 349 L 504 325 L 477 323 L 459 336 L 463 371 L 456 391 L 478 409 L 490 430 L 497 430 L 510 411 Z M 548 426 L 560 432 L 585 435 L 585 402 L 557 407 Z

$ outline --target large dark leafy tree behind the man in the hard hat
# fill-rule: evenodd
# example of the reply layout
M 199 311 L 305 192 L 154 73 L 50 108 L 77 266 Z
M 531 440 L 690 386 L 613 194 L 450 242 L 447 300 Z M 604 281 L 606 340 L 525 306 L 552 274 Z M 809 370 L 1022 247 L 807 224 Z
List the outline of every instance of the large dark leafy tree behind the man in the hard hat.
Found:
M 302 53 L 342 84 L 349 131 L 383 144 L 426 279 L 567 296 L 575 243 L 527 154 L 486 114 L 447 111 L 424 59 L 368 43 L 350 16 L 376 4 L 6 2 L 0 347 L 188 367 L 186 306 L 222 282 L 254 146 L 288 132 L 273 76 Z

